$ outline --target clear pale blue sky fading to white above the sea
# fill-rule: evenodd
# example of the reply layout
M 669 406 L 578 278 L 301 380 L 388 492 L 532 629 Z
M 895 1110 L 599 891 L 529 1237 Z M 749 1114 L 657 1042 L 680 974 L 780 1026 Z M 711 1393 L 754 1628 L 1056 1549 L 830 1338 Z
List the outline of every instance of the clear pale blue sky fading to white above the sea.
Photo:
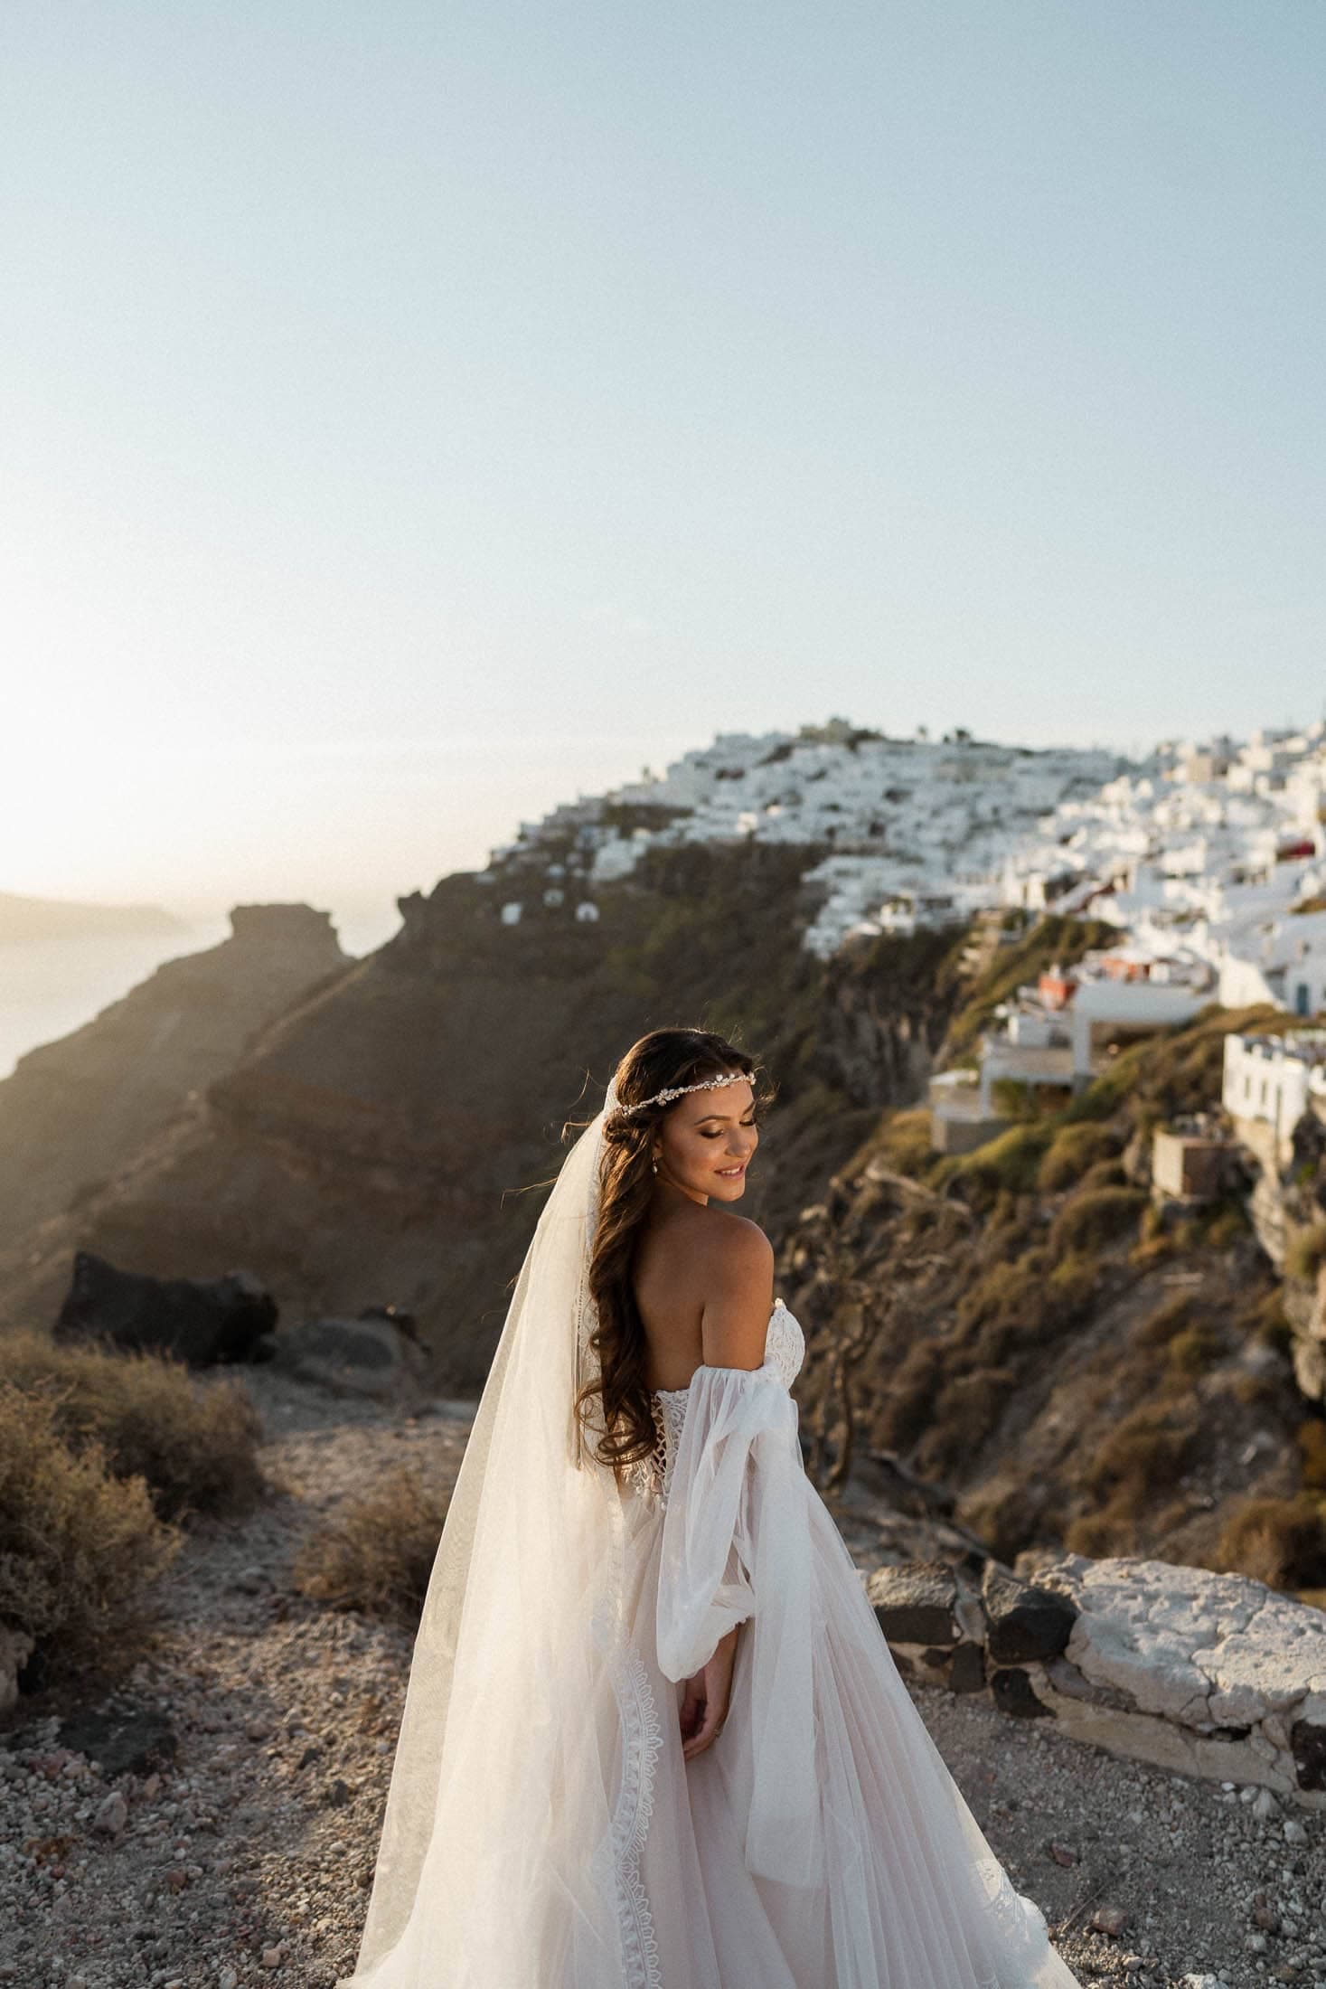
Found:
M 1326 696 L 1320 0 L 10 0 L 0 889 Z

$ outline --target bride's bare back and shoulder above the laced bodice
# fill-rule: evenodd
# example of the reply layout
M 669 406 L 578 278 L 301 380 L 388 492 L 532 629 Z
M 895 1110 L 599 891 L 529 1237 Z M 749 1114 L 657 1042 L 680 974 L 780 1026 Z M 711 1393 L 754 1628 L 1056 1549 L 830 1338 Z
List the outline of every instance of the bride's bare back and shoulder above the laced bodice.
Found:
M 632 1289 L 650 1388 L 686 1388 L 702 1362 L 759 1364 L 773 1251 L 747 1217 L 694 1201 L 652 1211 L 636 1243 Z

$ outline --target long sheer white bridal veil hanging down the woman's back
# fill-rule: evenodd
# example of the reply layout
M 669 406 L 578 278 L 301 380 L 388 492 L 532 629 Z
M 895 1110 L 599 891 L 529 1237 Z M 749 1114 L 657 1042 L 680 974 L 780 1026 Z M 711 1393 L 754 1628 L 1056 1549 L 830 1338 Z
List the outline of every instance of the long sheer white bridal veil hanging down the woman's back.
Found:
M 415 1635 L 356 1971 L 620 1989 L 632 1901 L 638 1681 L 624 1514 L 584 1446 L 602 1126 L 539 1215 L 451 1494 Z M 636 1661 L 638 1663 L 638 1661 Z M 429 1969 L 431 1963 L 431 1969 Z

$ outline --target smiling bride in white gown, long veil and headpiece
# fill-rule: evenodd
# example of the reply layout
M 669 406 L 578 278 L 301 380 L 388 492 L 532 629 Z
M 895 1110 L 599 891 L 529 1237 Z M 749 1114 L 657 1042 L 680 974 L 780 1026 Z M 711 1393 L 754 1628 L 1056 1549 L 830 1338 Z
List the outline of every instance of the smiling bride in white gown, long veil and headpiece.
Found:
M 415 1637 L 336 1989 L 1074 1989 L 805 1476 L 736 1213 L 755 1064 L 642 1036 L 567 1154 Z

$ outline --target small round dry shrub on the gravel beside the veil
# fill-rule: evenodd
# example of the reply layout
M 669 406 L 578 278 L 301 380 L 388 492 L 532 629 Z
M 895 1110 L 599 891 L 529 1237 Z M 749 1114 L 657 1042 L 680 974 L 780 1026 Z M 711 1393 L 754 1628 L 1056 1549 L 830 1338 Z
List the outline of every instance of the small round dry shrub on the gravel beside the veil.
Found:
M 300 1547 L 294 1585 L 332 1609 L 414 1629 L 445 1518 L 447 1496 L 400 1466 L 322 1518 Z

